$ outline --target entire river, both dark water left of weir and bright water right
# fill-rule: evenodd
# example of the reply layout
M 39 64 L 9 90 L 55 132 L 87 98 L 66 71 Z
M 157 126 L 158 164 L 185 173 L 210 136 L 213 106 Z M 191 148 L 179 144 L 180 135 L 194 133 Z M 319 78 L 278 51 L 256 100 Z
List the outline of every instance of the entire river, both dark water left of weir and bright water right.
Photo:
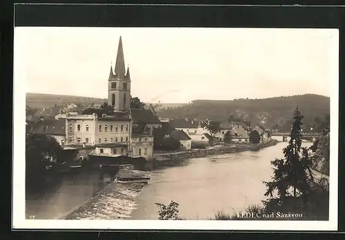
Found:
M 101 203 L 95 204 L 98 208 L 113 211 L 114 214 L 109 213 L 114 216 L 112 219 L 116 219 L 115 213 L 119 209 L 128 212 L 127 219 L 157 219 L 155 203 L 168 204 L 170 201 L 179 203 L 179 215 L 186 219 L 208 219 L 218 210 L 230 214 L 261 203 L 266 190 L 262 181 L 269 181 L 272 175 L 270 160 L 282 157 L 286 145 L 287 142 L 279 142 L 257 151 L 190 158 L 181 166 L 152 171 L 150 182 L 141 193 L 134 193 L 129 186 L 113 186 L 110 190 L 118 193 L 107 195 Z M 311 143 L 304 142 L 304 146 L 311 146 Z M 67 175 L 57 187 L 44 194 L 28 196 L 26 216 L 57 219 L 83 204 L 104 186 L 98 173 Z M 124 195 L 124 190 L 130 195 L 127 194 L 121 202 L 116 196 Z M 126 204 L 130 211 L 124 209 Z M 101 209 L 88 211 L 87 215 L 83 212 L 75 215 L 78 219 L 104 219 L 100 212 Z

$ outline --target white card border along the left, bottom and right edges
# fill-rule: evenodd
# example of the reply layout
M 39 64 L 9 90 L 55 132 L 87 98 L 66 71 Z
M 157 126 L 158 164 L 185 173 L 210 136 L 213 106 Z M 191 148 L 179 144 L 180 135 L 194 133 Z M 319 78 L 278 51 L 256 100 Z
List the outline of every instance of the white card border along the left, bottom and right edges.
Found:
M 27 220 L 25 219 L 25 109 L 26 46 L 14 28 L 13 88 L 13 201 L 12 227 L 15 229 L 95 229 L 95 230 L 337 230 L 338 195 L 338 109 L 339 30 L 333 29 L 331 66 L 331 166 L 329 221 L 159 221 L 159 220 Z

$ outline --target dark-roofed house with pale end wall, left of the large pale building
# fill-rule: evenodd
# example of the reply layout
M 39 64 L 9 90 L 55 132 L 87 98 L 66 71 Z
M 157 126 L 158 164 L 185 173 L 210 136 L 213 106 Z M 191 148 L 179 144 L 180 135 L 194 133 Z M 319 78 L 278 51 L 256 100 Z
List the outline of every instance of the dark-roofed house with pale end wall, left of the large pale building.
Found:
M 55 120 L 41 117 L 38 122 L 30 122 L 26 126 L 27 133 L 50 135 L 55 138 L 61 146 L 66 144 L 66 121 L 64 119 Z

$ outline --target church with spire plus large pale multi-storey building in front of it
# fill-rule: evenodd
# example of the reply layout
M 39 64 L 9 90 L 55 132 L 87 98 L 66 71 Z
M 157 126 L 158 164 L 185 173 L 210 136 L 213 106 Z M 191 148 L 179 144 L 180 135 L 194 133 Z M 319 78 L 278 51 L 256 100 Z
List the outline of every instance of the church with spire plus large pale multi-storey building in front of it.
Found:
M 72 115 L 66 117 L 66 149 L 86 149 L 85 155 L 152 158 L 153 135 L 161 122 L 149 109 L 130 108 L 130 72 L 126 69 L 121 36 L 113 71 L 108 78 L 110 115 Z M 138 131 L 143 129 L 143 131 Z

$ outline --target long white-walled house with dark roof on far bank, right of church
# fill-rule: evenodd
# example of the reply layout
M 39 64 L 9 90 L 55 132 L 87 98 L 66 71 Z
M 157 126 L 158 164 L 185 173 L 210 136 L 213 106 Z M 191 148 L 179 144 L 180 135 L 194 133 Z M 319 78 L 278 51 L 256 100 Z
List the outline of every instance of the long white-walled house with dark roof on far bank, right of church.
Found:
M 188 135 L 206 133 L 206 122 L 204 120 L 190 120 L 188 118 L 173 119 L 170 121 L 172 127 L 182 130 Z

